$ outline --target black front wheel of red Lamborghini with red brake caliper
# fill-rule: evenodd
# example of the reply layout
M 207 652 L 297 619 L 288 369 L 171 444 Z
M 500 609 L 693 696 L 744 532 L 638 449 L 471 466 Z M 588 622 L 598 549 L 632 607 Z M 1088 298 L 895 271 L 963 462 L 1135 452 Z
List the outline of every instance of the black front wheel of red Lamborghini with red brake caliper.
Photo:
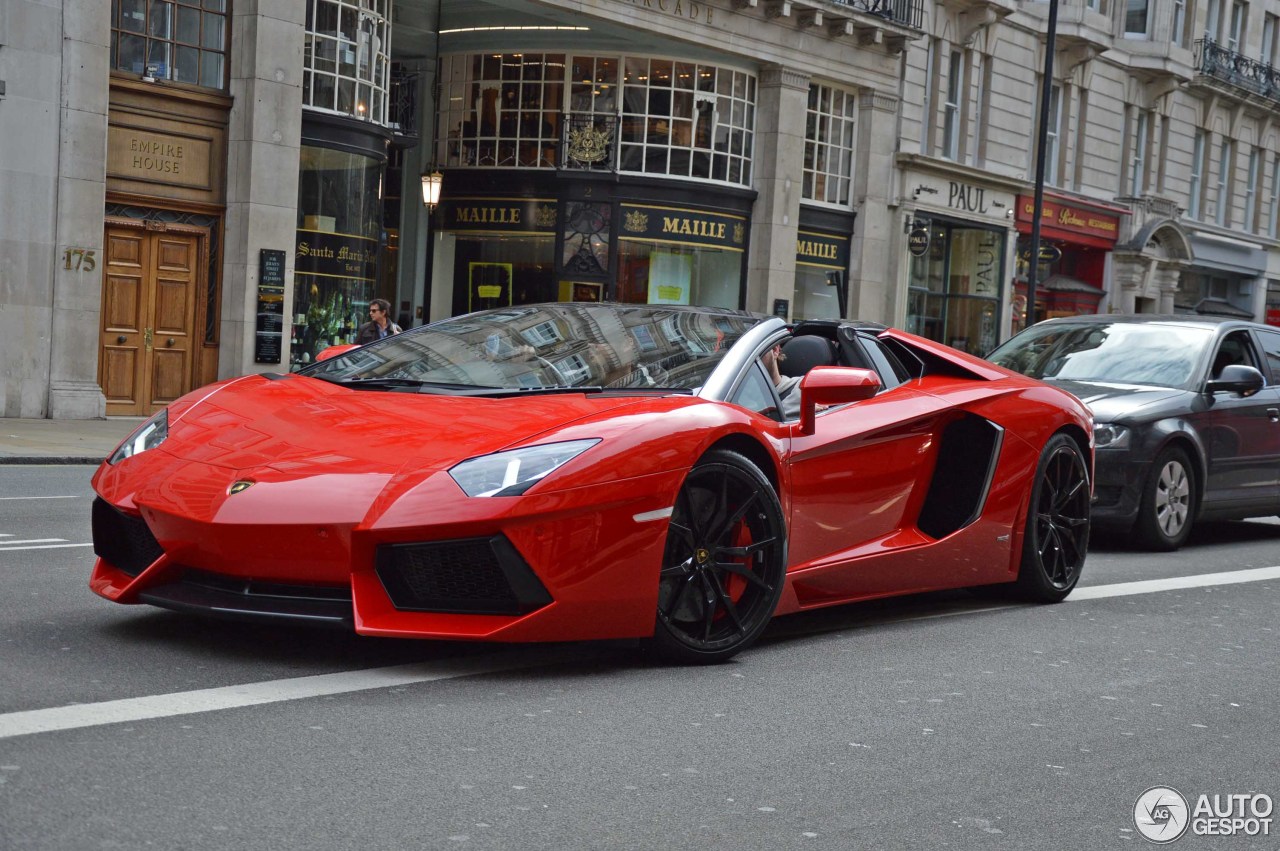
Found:
M 786 525 L 773 485 L 739 453 L 708 452 L 671 514 L 653 649 L 684 664 L 730 659 L 769 623 L 786 569 Z

